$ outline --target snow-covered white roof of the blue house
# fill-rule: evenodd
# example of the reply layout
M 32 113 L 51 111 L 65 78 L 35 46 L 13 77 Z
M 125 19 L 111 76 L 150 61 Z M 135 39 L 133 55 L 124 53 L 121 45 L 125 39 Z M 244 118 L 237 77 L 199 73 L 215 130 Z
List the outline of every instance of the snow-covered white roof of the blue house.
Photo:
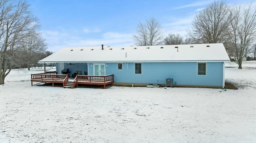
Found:
M 163 48 L 161 48 L 163 47 Z M 178 48 L 175 48 L 178 47 Z M 178 51 L 177 51 L 178 50 Z M 230 61 L 222 43 L 131 47 L 68 47 L 38 63 Z

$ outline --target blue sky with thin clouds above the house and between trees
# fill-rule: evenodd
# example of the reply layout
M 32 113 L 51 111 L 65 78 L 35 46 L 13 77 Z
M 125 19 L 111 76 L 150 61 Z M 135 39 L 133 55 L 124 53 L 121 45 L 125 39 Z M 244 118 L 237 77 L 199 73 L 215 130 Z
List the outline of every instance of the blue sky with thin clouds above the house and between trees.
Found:
M 251 0 L 226 0 L 246 4 Z M 214 0 L 28 0 L 48 51 L 63 47 L 134 45 L 139 22 L 151 17 L 168 33 L 186 35 L 198 11 Z M 254 2 L 254 1 L 253 1 Z

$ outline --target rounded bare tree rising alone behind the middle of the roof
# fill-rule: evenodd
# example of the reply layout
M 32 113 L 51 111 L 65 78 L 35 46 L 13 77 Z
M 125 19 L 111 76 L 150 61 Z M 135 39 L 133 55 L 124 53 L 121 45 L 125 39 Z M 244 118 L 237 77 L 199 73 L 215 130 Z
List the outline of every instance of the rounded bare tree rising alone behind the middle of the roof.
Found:
M 159 22 L 150 18 L 145 24 L 141 23 L 137 26 L 137 34 L 133 36 L 135 44 L 138 46 L 159 45 L 162 41 L 162 26 Z

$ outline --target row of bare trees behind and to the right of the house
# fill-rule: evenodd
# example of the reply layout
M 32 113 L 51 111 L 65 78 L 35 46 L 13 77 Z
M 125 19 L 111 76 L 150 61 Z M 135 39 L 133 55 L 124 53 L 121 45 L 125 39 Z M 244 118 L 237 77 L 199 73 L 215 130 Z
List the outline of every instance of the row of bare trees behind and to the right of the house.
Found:
M 179 33 L 163 37 L 162 26 L 155 18 L 136 28 L 136 45 L 223 43 L 228 55 L 236 57 L 238 69 L 242 69 L 244 57 L 253 53 L 255 59 L 256 55 L 256 10 L 252 3 L 229 6 L 223 0 L 214 1 L 196 14 L 185 37 Z

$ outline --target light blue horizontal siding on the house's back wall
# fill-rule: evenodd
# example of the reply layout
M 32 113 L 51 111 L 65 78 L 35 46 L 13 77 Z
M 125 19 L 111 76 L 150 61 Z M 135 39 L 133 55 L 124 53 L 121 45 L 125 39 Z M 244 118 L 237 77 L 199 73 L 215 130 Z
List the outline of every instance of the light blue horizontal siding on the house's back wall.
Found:
M 197 75 L 196 62 L 142 63 L 142 74 L 135 74 L 134 63 L 123 63 L 123 70 L 117 70 L 117 63 L 105 64 L 106 75 L 114 74 L 119 83 L 165 84 L 166 78 L 173 78 L 177 85 L 222 86 L 222 62 L 208 62 L 206 76 Z M 93 74 L 90 66 L 89 72 Z

